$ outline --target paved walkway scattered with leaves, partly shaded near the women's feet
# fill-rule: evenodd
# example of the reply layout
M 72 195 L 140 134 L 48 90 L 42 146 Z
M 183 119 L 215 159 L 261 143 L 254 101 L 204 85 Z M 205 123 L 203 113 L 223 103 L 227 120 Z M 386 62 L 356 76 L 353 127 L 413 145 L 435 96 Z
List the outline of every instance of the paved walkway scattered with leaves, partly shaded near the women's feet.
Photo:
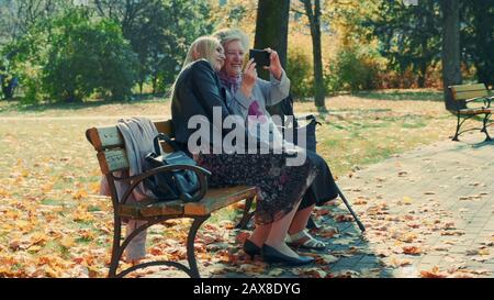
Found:
M 494 277 L 494 143 L 479 141 L 475 133 L 439 142 L 340 178 L 367 232 L 361 235 L 348 222 L 339 200 L 319 208 L 315 234 L 328 242 L 328 251 L 314 252 L 312 266 L 283 268 L 244 257 L 209 262 L 200 271 L 203 277 Z M 231 232 L 234 255 L 243 253 L 233 242 L 237 234 Z

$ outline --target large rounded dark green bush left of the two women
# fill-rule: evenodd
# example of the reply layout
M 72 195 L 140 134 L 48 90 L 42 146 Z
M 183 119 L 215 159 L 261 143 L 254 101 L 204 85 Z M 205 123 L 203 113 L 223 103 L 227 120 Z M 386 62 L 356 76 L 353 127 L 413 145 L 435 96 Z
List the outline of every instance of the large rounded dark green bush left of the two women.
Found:
M 137 59 L 117 24 L 91 22 L 83 12 L 69 11 L 53 25 L 42 79 L 50 98 L 81 101 L 98 92 L 115 100 L 132 95 Z

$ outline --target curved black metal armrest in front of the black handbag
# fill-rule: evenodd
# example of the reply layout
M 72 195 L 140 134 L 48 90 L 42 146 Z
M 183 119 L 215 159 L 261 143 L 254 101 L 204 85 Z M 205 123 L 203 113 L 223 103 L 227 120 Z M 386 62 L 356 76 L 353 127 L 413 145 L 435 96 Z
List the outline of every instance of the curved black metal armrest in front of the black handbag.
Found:
M 176 170 L 187 170 L 187 169 L 194 171 L 195 175 L 198 176 L 200 190 L 198 191 L 199 195 L 194 198 L 202 199 L 204 197 L 204 195 L 207 192 L 206 176 L 211 176 L 211 171 L 206 170 L 205 168 L 192 166 L 192 165 L 168 165 L 168 166 L 149 169 L 143 174 L 126 178 L 125 180 L 128 180 L 132 184 L 127 188 L 125 193 L 123 195 L 122 201 L 120 203 L 125 204 L 131 192 L 135 189 L 135 187 L 137 187 L 138 184 L 143 182 L 146 178 L 149 178 L 149 177 L 155 176 L 160 173 L 171 173 L 171 171 L 176 171 Z

